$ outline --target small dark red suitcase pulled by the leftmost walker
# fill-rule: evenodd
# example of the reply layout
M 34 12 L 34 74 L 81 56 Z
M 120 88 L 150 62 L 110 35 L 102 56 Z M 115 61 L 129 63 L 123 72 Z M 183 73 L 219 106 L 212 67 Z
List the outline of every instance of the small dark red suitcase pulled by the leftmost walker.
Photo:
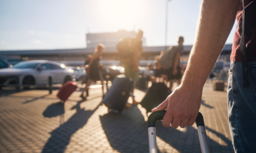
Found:
M 65 102 L 68 99 L 68 97 L 74 92 L 74 90 L 76 90 L 76 88 L 76 83 L 72 81 L 67 81 L 65 84 L 63 84 L 62 87 L 60 87 L 57 97 L 59 97 L 60 100 Z

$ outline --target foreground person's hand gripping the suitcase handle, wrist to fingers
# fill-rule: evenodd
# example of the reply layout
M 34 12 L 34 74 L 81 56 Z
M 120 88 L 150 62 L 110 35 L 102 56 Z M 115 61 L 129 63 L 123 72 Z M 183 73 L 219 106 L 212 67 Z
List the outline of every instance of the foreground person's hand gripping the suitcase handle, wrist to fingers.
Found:
M 162 104 L 152 109 L 152 112 L 166 109 L 163 117 L 165 127 L 171 125 L 176 129 L 179 126 L 182 128 L 192 126 L 199 112 L 201 99 L 201 90 L 179 86 Z

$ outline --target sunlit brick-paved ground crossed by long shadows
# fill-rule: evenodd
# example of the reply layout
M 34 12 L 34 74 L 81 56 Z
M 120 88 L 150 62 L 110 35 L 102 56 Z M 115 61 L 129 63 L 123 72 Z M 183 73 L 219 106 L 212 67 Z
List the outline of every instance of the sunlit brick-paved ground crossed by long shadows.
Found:
M 101 106 L 101 88 L 90 89 L 87 101 L 79 89 L 65 105 L 57 89 L 0 91 L 0 152 L 148 152 L 146 110 L 138 106 L 108 114 Z M 144 92 L 135 90 L 137 100 Z M 130 100 L 129 100 L 130 101 Z M 200 111 L 210 152 L 233 152 L 227 124 L 226 92 L 207 83 Z M 157 123 L 158 152 L 201 152 L 197 129 L 165 128 Z

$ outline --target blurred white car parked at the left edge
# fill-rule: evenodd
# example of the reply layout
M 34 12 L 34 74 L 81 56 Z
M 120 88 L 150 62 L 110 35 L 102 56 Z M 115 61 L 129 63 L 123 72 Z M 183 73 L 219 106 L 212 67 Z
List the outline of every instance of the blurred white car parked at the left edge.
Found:
M 62 84 L 73 80 L 74 70 L 64 64 L 48 60 L 21 61 L 11 68 L 0 69 L 0 87 L 15 86 L 29 88 L 30 86 L 46 86 Z

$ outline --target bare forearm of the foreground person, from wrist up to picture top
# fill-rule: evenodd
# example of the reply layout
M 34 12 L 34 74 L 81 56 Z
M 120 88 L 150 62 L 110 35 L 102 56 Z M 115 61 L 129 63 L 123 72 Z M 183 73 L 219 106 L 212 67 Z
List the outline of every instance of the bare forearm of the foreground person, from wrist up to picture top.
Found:
M 217 2 L 218 1 L 218 2 Z M 182 84 L 202 89 L 235 21 L 240 0 L 204 0 Z

